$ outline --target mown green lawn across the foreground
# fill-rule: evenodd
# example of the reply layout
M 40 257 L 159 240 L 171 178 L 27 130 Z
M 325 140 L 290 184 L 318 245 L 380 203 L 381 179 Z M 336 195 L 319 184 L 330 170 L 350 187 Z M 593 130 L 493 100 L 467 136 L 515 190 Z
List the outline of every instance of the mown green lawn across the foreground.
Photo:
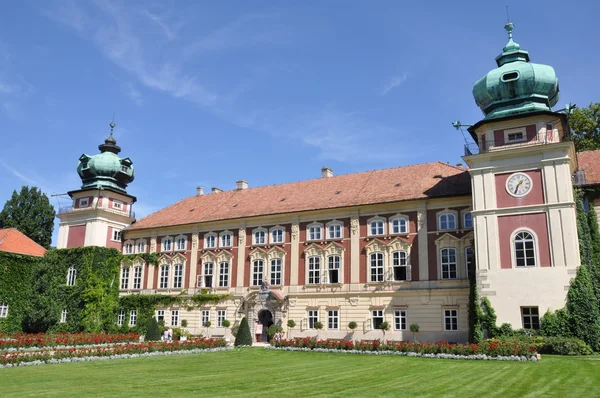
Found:
M 600 357 L 533 363 L 267 351 L 0 369 L 8 396 L 597 396 Z

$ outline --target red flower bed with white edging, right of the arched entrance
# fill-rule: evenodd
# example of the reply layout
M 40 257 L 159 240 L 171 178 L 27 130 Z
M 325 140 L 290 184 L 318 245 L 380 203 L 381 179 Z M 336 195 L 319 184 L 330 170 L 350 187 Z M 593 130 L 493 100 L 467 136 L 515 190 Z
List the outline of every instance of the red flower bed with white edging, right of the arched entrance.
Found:
M 316 340 L 299 338 L 293 340 L 272 341 L 273 348 L 302 348 L 308 350 L 380 352 L 450 356 L 485 356 L 485 357 L 525 357 L 537 358 L 537 350 L 532 344 L 520 342 L 486 341 L 481 344 L 450 344 L 445 341 L 437 343 L 413 343 L 409 341 L 348 341 L 348 340 Z

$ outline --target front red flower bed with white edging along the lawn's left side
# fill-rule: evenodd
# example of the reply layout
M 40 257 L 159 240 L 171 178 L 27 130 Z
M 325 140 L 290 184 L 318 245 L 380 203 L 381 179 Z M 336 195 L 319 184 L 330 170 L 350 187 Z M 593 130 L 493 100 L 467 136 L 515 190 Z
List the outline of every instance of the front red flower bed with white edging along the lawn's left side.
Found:
M 155 352 L 177 352 L 212 350 L 224 348 L 227 343 L 223 339 L 197 339 L 176 342 L 146 342 L 117 344 L 111 346 L 95 346 L 86 348 L 57 348 L 53 350 L 17 351 L 0 355 L 0 366 L 18 365 L 21 363 L 57 363 L 64 359 L 99 358 L 99 357 L 131 357 Z M 62 361 L 68 362 L 68 361 Z

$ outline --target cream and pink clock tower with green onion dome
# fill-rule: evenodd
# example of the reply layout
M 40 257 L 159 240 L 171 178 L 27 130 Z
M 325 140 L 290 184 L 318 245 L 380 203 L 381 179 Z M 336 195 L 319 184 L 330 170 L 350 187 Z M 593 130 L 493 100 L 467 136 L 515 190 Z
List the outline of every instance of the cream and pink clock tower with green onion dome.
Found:
M 498 323 L 537 328 L 565 305 L 580 265 L 571 176 L 576 169 L 558 79 L 512 38 L 473 86 L 483 120 L 469 128 L 477 283 Z

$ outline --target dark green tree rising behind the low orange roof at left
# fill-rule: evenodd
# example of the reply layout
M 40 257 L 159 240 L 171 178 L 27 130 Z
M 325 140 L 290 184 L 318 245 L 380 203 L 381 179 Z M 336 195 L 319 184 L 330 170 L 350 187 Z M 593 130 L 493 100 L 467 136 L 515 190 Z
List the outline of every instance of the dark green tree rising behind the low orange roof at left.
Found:
M 0 228 L 16 228 L 39 245 L 49 248 L 54 230 L 54 207 L 39 188 L 23 186 L 13 191 L 0 212 Z

